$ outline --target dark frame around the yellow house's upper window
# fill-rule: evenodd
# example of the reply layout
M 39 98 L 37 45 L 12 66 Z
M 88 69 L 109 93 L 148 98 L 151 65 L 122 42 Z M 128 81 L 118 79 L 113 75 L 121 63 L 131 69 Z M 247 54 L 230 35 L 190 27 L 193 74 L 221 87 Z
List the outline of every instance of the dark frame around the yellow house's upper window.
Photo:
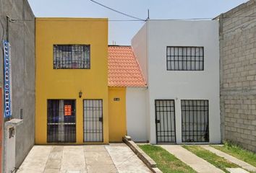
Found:
M 55 54 L 54 48 L 55 48 L 55 46 L 74 46 L 74 45 L 82 45 L 82 46 L 85 46 L 85 48 L 86 47 L 88 48 L 88 56 L 89 56 L 89 58 L 85 58 L 85 68 L 73 68 L 73 67 L 56 68 L 55 67 L 56 65 L 54 66 L 54 63 L 56 63 L 56 58 L 54 57 L 54 54 Z M 90 52 L 90 50 L 91 50 L 91 45 L 90 44 L 54 44 L 53 45 L 53 61 L 52 61 L 53 62 L 53 69 L 54 70 L 70 70 L 70 69 L 74 69 L 74 70 L 88 70 L 88 69 L 90 69 L 90 66 L 91 66 L 91 52 Z M 71 63 L 72 63 L 72 61 L 71 61 Z

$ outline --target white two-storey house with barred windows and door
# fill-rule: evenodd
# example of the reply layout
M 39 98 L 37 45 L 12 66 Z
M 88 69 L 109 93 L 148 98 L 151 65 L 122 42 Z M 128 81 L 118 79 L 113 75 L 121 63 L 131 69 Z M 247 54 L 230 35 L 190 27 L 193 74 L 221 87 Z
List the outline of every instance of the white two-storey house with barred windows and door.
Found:
M 127 102 L 127 111 L 141 111 L 140 122 L 127 113 L 128 135 L 150 143 L 221 142 L 218 43 L 218 21 L 145 23 L 132 48 L 148 89 L 141 97 L 127 89 L 134 94 L 127 97 L 144 98 L 146 110 Z M 137 123 L 146 129 L 137 132 Z

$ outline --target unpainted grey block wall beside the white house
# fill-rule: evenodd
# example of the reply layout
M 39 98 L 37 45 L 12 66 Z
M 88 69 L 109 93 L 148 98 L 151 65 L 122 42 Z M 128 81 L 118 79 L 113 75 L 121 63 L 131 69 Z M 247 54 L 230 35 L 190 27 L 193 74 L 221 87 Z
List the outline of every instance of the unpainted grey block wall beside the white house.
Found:
M 256 2 L 221 14 L 222 139 L 256 151 Z M 253 17 L 248 17 L 253 15 Z

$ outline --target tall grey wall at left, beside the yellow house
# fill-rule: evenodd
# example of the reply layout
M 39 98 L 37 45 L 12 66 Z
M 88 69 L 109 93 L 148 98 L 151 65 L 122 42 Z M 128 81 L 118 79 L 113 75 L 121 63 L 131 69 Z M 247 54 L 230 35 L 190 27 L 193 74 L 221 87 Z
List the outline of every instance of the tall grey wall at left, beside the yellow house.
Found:
M 0 0 L 0 19 L 7 39 L 7 17 L 17 19 L 9 23 L 9 42 L 12 46 L 12 115 L 23 123 L 16 131 L 16 167 L 19 167 L 35 139 L 35 17 L 27 0 Z M 25 20 L 25 21 L 24 21 Z M 0 39 L 3 30 L 0 24 Z M 0 51 L 0 86 L 3 86 L 3 53 Z

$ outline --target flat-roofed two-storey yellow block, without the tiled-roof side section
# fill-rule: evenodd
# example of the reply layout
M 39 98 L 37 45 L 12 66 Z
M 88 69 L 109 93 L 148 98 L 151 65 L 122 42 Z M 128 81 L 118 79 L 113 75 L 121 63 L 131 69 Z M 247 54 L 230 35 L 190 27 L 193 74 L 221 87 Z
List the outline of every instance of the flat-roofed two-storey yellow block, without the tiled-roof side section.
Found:
M 35 143 L 108 143 L 108 19 L 35 21 Z

